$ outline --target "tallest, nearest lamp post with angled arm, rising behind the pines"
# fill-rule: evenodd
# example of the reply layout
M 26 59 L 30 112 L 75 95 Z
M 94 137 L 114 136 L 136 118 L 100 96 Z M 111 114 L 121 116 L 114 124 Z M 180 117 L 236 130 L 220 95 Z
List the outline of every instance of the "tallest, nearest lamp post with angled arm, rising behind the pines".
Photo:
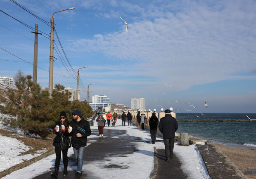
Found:
M 66 11 L 66 10 L 73 10 L 75 9 L 75 7 L 71 7 L 69 9 L 65 9 L 62 11 Z M 62 12 L 62 11 L 57 11 L 57 12 Z M 57 13 L 55 12 L 55 13 Z M 50 68 L 49 68 L 49 93 L 50 93 L 50 98 L 52 98 L 52 90 L 53 90 L 53 32 L 54 32 L 54 19 L 53 19 L 53 15 L 52 14 L 52 19 L 51 19 L 51 42 L 50 42 Z

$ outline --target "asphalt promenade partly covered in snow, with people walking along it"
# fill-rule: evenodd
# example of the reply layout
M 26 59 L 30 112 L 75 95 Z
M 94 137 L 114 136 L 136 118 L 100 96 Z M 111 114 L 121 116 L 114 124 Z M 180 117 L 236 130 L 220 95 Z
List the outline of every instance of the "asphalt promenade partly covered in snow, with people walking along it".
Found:
M 151 143 L 147 130 L 138 130 L 136 126 L 121 125 L 121 120 L 115 127 L 105 127 L 104 137 L 99 137 L 97 123 L 91 126 L 92 134 L 88 137 L 85 148 L 83 176 L 88 179 L 205 179 L 205 178 L 244 178 L 234 166 L 225 166 L 225 156 L 213 155 L 216 148 L 210 145 L 198 145 L 204 151 L 203 158 L 209 163 L 208 174 L 204 160 L 196 145 L 174 146 L 174 157 L 165 161 L 164 142 L 157 137 L 156 144 Z M 218 153 L 218 152 L 217 152 Z M 222 158 L 224 165 L 218 164 Z M 218 165 L 216 165 L 216 163 Z M 28 167 L 12 172 L 3 179 L 48 179 L 54 170 L 55 154 L 46 157 Z M 216 166 L 216 167 L 215 167 Z M 223 167 L 224 166 L 224 167 Z M 225 168 L 228 167 L 228 168 Z M 233 168 L 232 168 L 233 167 Z M 59 179 L 73 179 L 76 174 L 76 163 L 73 148 L 69 149 L 68 176 L 62 177 L 63 164 L 59 169 Z M 225 175 L 221 175 L 220 170 Z M 229 173 L 226 173 L 229 171 Z M 239 174 L 237 174 L 237 172 Z M 241 172 L 242 173 L 242 172 Z

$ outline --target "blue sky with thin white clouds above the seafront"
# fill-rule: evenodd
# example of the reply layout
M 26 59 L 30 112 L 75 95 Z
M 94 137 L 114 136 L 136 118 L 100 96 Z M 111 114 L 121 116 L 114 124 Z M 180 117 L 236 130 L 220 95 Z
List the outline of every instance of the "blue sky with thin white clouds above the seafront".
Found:
M 0 6 L 0 76 L 33 75 L 38 24 L 37 82 L 48 87 L 50 19 L 75 7 L 54 14 L 53 86 L 76 89 L 78 69 L 88 66 L 79 70 L 81 100 L 93 83 L 90 101 L 97 94 L 129 107 L 145 98 L 158 112 L 256 113 L 255 0 L 16 0 L 44 21 L 12 1 Z

